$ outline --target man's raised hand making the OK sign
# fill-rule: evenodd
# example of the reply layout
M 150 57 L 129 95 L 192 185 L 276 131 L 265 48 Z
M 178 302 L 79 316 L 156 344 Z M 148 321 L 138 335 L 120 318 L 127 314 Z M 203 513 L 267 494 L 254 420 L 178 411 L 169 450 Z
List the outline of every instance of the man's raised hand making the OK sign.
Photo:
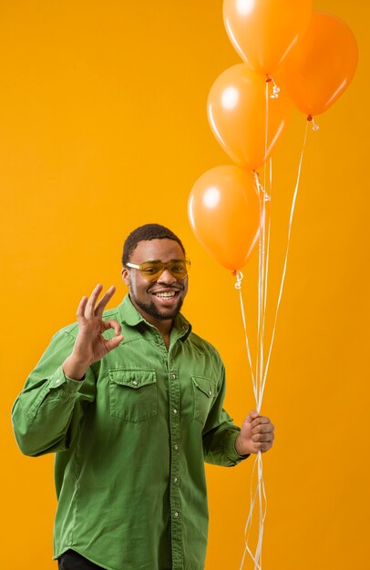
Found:
M 98 296 L 102 290 L 102 285 L 97 285 L 90 297 L 88 299 L 83 297 L 78 305 L 79 331 L 72 354 L 63 363 L 63 372 L 73 380 L 82 380 L 87 368 L 93 362 L 101 360 L 109 351 L 117 348 L 119 342 L 123 340 L 118 321 L 114 319 L 102 320 L 103 311 L 113 297 L 116 288 L 109 287 L 105 295 L 98 301 Z M 113 329 L 116 334 L 109 341 L 103 337 L 103 332 L 108 331 L 108 329 Z

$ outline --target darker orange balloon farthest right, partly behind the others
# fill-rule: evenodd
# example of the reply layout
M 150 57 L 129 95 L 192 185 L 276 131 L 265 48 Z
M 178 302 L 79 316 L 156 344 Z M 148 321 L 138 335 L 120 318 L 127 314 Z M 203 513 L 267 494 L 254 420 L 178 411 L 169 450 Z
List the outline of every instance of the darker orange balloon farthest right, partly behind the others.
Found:
M 348 25 L 334 15 L 317 12 L 276 80 L 303 113 L 320 115 L 349 86 L 357 59 L 355 36 Z

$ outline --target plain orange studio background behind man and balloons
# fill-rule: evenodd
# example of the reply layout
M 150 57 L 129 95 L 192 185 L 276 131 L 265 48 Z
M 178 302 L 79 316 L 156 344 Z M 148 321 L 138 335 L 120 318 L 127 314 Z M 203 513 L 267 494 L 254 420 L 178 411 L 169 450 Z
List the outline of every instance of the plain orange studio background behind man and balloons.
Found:
M 360 59 L 352 85 L 318 117 L 320 130 L 310 129 L 303 163 L 262 407 L 277 436 L 264 455 L 263 567 L 365 570 L 370 9 L 363 0 L 316 0 L 314 8 L 350 25 Z M 12 570 L 51 570 L 53 457 L 19 453 L 10 407 L 52 334 L 75 319 L 82 294 L 101 281 L 118 286 L 116 302 L 124 295 L 128 231 L 156 221 L 180 234 L 193 266 L 184 312 L 221 351 L 235 421 L 254 407 L 233 278 L 200 248 L 187 219 L 194 181 L 230 163 L 211 135 L 206 100 L 240 59 L 221 0 L 3 2 L 0 53 L 1 558 Z M 270 315 L 304 127 L 294 113 L 274 155 Z M 245 273 L 253 331 L 255 259 Z M 251 471 L 252 462 L 207 468 L 207 570 L 240 567 Z

